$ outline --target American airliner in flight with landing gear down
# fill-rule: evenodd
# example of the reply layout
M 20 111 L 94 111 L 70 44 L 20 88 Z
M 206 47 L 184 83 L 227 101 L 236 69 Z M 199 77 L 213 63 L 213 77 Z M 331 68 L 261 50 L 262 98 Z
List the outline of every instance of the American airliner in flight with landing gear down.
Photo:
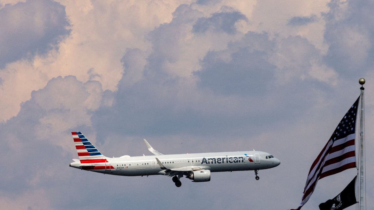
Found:
M 71 132 L 79 159 L 73 159 L 70 167 L 86 171 L 119 176 L 166 175 L 172 177 L 175 186 L 182 185 L 180 178 L 186 176 L 192 182 L 208 182 L 211 172 L 232 172 L 254 170 L 256 180 L 258 170 L 270 169 L 281 164 L 277 158 L 267 152 L 209 152 L 194 154 L 165 155 L 144 140 L 148 150 L 155 156 L 105 157 L 81 133 Z

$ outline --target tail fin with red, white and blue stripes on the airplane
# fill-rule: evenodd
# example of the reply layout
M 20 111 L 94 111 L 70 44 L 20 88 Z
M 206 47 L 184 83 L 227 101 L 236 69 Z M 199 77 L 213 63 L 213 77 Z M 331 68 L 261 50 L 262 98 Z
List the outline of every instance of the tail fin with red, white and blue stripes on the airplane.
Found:
M 102 155 L 95 146 L 81 133 L 71 132 L 80 163 L 105 163 L 107 157 Z

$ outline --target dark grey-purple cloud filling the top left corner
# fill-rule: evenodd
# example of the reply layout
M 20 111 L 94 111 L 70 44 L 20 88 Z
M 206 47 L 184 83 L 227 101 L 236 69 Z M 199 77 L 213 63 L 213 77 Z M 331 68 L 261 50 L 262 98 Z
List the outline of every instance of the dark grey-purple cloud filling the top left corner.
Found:
M 54 1 L 26 1 L 0 9 L 0 69 L 58 48 L 70 34 L 65 7 Z

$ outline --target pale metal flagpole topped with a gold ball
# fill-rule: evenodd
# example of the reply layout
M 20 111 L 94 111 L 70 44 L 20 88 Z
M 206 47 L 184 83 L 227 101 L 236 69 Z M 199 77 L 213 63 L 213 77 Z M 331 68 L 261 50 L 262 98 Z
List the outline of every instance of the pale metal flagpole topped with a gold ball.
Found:
M 364 84 L 365 79 L 359 79 L 361 84 L 361 112 L 360 112 L 360 200 L 359 210 L 364 210 Z

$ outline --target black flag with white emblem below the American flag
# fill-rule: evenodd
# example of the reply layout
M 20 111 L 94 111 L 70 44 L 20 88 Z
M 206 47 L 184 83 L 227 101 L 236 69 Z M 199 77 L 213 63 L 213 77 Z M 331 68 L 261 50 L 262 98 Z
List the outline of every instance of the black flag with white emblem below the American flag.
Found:
M 339 195 L 337 195 L 332 200 L 327 200 L 325 203 L 319 204 L 320 210 L 340 210 L 345 209 L 353 204 L 357 203 L 356 201 L 356 194 L 355 194 L 355 178 L 346 186 L 346 188 L 341 191 Z

